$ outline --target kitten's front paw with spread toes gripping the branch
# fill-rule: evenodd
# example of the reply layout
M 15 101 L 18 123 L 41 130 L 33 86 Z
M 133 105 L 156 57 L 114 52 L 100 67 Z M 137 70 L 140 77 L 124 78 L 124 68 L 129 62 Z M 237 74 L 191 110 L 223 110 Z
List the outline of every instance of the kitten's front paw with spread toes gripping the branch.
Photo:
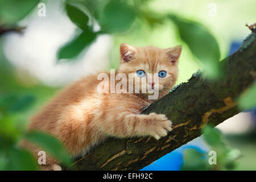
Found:
M 158 140 L 161 137 L 165 137 L 168 131 L 172 130 L 172 122 L 168 120 L 166 115 L 150 113 L 148 117 L 152 121 L 150 126 L 150 135 L 155 139 Z

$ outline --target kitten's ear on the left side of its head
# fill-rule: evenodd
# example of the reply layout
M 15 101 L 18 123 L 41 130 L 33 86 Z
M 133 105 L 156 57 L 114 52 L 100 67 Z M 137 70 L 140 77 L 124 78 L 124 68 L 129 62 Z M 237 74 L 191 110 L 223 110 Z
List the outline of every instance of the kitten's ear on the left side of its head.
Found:
M 120 45 L 120 55 L 121 55 L 120 62 L 127 63 L 127 62 L 133 60 L 135 51 L 136 51 L 135 47 L 122 43 Z

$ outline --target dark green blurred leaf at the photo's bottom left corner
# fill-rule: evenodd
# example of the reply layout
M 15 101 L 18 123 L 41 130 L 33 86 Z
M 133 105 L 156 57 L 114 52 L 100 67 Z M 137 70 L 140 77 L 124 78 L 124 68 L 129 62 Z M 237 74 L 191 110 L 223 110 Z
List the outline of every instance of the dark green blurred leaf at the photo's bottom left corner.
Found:
M 7 170 L 11 171 L 34 171 L 38 164 L 30 152 L 21 148 L 10 148 L 8 151 Z

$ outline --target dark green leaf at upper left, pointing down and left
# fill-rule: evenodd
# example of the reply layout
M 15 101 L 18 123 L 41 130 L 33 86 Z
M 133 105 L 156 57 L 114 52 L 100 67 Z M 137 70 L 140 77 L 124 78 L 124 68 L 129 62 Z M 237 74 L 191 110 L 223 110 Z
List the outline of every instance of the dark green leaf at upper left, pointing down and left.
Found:
M 58 51 L 58 60 L 60 59 L 74 59 L 82 50 L 88 47 L 95 39 L 97 33 L 92 31 L 83 31 L 79 36 L 65 44 Z

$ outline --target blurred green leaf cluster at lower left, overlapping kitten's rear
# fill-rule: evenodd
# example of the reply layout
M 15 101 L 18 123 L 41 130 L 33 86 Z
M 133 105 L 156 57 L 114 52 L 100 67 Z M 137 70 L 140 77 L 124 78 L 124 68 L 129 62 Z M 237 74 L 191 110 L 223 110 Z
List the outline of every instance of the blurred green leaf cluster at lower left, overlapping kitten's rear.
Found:
M 49 134 L 42 132 L 27 132 L 20 127 L 18 113 L 28 109 L 35 98 L 30 95 L 19 96 L 5 94 L 0 100 L 0 169 L 1 170 L 36 170 L 38 165 L 34 156 L 19 146 L 20 140 L 26 139 L 36 144 L 47 155 L 59 159 L 64 164 L 70 164 L 71 158 L 63 144 Z

